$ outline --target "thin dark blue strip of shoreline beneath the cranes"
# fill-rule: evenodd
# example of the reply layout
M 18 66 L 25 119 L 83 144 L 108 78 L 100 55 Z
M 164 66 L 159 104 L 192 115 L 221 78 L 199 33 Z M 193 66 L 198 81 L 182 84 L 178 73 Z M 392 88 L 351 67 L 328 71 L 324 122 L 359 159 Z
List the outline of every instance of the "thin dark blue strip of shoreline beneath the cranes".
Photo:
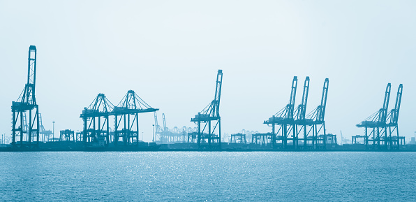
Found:
M 214 147 L 216 146 L 216 147 Z M 48 142 L 38 145 L 22 145 L 12 147 L 12 145 L 1 145 L 0 152 L 416 152 L 416 145 L 401 145 L 399 149 L 366 147 L 365 145 L 327 145 L 327 147 L 298 147 L 292 145 L 283 148 L 279 145 L 255 145 L 239 143 L 222 143 L 219 145 L 202 145 L 198 147 L 196 143 L 177 143 L 162 144 L 140 143 L 138 145 L 84 145 L 81 142 Z

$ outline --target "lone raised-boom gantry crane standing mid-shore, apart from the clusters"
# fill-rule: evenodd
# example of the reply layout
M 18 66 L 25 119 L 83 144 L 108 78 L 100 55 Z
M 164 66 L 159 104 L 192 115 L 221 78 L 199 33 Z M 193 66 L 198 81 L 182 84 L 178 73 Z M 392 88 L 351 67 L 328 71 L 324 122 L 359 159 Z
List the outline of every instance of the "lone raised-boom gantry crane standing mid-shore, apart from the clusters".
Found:
M 223 71 L 218 70 L 216 75 L 216 88 L 214 100 L 209 103 L 198 115 L 195 115 L 191 119 L 191 122 L 198 124 L 198 132 L 196 134 L 198 138 L 198 146 L 208 143 L 218 143 L 221 148 L 221 116 L 220 116 L 220 99 L 221 99 L 221 86 L 223 82 Z M 211 121 L 216 121 L 214 127 L 211 126 Z M 201 123 L 205 126 L 201 129 Z M 208 134 L 204 134 L 205 129 L 208 127 Z M 218 127 L 218 135 L 215 134 L 215 130 Z M 192 135 L 192 134 L 191 134 Z

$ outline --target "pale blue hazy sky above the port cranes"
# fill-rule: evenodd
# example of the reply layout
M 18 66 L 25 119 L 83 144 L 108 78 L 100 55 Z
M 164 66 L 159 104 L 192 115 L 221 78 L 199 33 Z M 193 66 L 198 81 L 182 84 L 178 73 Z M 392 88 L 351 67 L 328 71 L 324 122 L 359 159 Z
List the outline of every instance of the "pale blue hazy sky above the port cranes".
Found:
M 223 69 L 224 133 L 269 132 L 262 124 L 289 101 L 294 75 L 310 76 L 311 111 L 329 78 L 327 133 L 364 134 L 355 124 L 389 109 L 403 84 L 400 135 L 414 136 L 416 1 L 0 1 L 0 134 L 38 49 L 36 99 L 55 133 L 82 129 L 98 93 L 117 105 L 129 89 L 165 113 L 168 127 L 214 99 Z M 151 140 L 153 113 L 140 115 Z M 113 127 L 113 126 L 111 126 Z M 140 133 L 142 135 L 142 133 Z

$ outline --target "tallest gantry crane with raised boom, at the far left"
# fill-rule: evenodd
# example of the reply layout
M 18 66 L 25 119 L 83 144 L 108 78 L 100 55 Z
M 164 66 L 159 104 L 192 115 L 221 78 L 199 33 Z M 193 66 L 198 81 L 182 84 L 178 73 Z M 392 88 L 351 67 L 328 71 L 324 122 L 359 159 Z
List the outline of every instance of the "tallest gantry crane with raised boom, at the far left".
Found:
M 36 46 L 29 47 L 27 64 L 27 84 L 17 101 L 12 102 L 12 145 L 23 145 L 24 134 L 27 134 L 28 144 L 39 143 L 39 106 L 36 103 Z M 29 128 L 24 131 L 23 113 L 29 111 Z

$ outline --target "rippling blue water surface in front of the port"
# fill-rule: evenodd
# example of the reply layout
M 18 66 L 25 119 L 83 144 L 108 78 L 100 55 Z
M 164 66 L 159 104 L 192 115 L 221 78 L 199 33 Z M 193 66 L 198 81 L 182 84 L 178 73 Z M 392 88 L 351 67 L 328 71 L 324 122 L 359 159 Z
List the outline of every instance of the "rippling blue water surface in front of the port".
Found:
M 416 152 L 0 152 L 0 201 L 416 201 Z

